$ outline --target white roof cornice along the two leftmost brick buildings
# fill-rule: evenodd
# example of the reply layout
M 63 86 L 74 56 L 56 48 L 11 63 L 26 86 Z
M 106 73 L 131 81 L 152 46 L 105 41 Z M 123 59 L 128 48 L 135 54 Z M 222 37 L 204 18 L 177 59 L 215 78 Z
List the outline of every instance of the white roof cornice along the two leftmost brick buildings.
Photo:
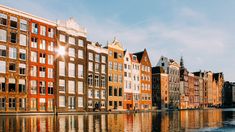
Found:
M 15 9 L 15 8 L 4 6 L 4 5 L 1 5 L 1 4 L 0 4 L 0 10 L 9 12 L 9 13 L 12 13 L 12 14 L 15 14 L 15 15 L 23 16 L 23 17 L 26 17 L 26 18 L 29 18 L 29 19 L 33 19 L 33 20 L 36 20 L 36 21 L 39 21 L 39 22 L 42 22 L 42 23 L 52 25 L 52 26 L 56 26 L 56 22 L 50 21 L 46 18 L 34 16 L 32 14 L 20 11 L 20 10 Z

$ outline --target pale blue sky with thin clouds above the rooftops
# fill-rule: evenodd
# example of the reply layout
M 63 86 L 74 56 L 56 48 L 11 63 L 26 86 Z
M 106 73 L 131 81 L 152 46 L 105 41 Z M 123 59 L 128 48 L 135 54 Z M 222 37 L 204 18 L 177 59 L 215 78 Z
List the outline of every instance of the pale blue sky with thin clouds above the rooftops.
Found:
M 161 56 L 190 72 L 223 72 L 235 81 L 234 0 L 1 0 L 52 21 L 73 17 L 88 40 L 120 41 L 129 52 L 147 49 L 152 66 Z

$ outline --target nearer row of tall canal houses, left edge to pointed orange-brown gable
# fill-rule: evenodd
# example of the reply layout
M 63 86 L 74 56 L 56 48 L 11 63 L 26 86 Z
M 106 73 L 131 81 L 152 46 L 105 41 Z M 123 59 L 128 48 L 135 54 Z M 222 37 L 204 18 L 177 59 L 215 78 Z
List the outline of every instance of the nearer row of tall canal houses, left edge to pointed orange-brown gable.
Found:
M 0 112 L 151 109 L 151 73 L 146 50 L 0 5 Z

